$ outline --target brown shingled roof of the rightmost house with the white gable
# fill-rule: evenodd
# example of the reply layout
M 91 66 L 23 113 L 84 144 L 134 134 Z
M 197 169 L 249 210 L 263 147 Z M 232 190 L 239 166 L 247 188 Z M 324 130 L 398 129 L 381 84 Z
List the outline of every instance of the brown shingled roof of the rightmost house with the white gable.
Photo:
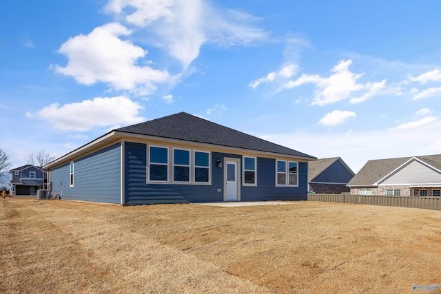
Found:
M 415 157 L 426 162 L 428 165 L 431 165 L 432 167 L 441 170 L 441 154 Z M 352 180 L 347 183 L 347 185 L 371 186 L 411 158 L 412 157 L 402 157 L 369 160 L 368 162 L 366 162 L 365 166 L 363 166 L 362 169 L 358 171 L 356 176 L 354 176 Z

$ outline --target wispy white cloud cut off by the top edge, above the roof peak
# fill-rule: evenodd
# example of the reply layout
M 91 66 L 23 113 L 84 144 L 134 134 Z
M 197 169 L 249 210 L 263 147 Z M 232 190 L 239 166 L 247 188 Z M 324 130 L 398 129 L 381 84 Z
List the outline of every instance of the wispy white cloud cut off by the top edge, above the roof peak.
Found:
M 205 43 L 249 45 L 267 33 L 250 23 L 255 17 L 235 10 L 222 11 L 203 0 L 110 0 L 105 11 L 153 34 L 154 42 L 187 68 Z

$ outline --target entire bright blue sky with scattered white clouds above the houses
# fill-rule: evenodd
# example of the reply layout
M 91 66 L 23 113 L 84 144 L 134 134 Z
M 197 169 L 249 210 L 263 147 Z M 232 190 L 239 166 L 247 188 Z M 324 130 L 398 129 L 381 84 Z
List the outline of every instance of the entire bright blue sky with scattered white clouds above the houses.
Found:
M 177 112 L 357 172 L 441 153 L 441 1 L 0 1 L 13 167 Z

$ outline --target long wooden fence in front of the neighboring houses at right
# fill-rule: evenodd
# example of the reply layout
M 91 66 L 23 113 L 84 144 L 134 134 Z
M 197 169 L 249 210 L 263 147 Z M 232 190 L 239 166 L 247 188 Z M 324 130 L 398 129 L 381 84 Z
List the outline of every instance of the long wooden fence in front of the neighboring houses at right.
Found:
M 441 210 L 441 197 L 308 194 L 308 201 L 371 204 Z

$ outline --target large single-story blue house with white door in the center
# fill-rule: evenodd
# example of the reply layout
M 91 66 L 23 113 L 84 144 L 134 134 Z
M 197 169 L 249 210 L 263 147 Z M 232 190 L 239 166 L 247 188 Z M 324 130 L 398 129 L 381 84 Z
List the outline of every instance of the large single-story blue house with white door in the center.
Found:
M 185 112 L 114 129 L 57 160 L 64 199 L 118 204 L 306 200 L 313 156 Z

